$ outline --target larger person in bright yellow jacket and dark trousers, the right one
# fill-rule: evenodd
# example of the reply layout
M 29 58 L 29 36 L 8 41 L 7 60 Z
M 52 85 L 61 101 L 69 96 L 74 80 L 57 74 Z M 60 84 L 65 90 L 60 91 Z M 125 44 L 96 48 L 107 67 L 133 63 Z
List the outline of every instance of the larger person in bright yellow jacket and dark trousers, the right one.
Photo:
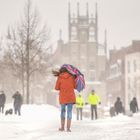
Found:
M 88 96 L 88 102 L 91 105 L 91 120 L 97 119 L 97 105 L 101 104 L 100 97 L 95 93 L 94 90 Z

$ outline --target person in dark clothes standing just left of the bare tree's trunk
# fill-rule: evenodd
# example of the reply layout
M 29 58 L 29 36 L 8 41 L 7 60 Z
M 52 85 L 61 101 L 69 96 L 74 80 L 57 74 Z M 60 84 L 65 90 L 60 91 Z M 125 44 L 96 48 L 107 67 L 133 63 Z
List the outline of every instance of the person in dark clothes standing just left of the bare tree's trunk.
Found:
M 22 95 L 17 91 L 13 96 L 14 98 L 14 112 L 15 114 L 21 115 Z

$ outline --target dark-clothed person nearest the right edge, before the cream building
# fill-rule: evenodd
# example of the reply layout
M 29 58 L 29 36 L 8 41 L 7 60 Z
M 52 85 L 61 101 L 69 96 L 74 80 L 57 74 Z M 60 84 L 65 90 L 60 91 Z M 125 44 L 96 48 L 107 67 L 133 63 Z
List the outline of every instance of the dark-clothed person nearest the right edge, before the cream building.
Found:
M 137 99 L 136 99 L 136 97 L 134 97 L 133 99 L 132 99 L 132 101 L 130 102 L 130 111 L 132 112 L 132 113 L 136 113 L 136 112 L 138 112 L 138 103 L 137 103 Z

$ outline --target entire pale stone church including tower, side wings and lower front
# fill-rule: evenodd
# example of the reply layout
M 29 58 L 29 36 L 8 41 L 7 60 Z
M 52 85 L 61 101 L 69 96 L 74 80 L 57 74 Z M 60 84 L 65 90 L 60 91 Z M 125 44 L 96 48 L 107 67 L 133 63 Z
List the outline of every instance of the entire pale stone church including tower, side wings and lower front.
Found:
M 74 65 L 84 74 L 86 89 L 83 92 L 88 94 L 94 88 L 104 98 L 102 94 L 105 93 L 105 85 L 101 79 L 106 68 L 106 46 L 98 42 L 97 5 L 95 16 L 89 15 L 88 4 L 85 15 L 81 15 L 79 9 L 77 3 L 77 14 L 72 16 L 69 3 L 68 42 L 64 43 L 60 31 L 54 65 Z M 88 96 L 87 94 L 83 95 Z

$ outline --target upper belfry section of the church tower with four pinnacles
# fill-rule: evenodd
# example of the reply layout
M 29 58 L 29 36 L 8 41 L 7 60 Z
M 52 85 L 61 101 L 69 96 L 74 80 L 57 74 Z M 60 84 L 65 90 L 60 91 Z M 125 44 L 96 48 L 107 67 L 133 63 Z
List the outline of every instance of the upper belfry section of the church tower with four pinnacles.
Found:
M 86 4 L 86 15 L 80 15 L 80 4 L 77 3 L 77 14 L 71 14 L 71 4 L 68 11 L 69 41 L 98 42 L 98 13 L 96 6 L 95 18 L 93 14 L 89 17 L 88 3 Z

